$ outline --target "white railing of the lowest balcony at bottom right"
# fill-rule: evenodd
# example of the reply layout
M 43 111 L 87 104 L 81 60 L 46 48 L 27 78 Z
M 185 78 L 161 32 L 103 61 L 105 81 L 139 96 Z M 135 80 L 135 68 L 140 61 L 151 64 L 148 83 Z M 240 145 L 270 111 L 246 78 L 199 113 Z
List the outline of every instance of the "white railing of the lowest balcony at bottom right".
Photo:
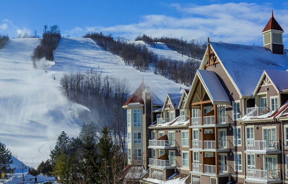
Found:
M 275 170 L 261 170 L 261 168 L 248 169 L 247 178 L 260 181 L 281 180 L 280 169 Z

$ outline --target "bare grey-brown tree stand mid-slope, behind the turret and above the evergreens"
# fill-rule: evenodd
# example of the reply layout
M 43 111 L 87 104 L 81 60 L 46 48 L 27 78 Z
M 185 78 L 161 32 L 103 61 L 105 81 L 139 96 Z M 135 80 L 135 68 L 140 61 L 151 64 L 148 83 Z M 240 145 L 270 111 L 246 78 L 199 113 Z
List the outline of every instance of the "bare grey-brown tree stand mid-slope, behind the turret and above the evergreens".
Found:
M 126 78 L 103 75 L 94 70 L 85 74 L 64 73 L 60 80 L 62 94 L 68 100 L 89 108 L 90 114 L 79 114 L 87 121 L 94 121 L 97 127 L 105 123 L 113 135 L 113 142 L 125 147 L 126 113 L 122 105 L 130 94 Z

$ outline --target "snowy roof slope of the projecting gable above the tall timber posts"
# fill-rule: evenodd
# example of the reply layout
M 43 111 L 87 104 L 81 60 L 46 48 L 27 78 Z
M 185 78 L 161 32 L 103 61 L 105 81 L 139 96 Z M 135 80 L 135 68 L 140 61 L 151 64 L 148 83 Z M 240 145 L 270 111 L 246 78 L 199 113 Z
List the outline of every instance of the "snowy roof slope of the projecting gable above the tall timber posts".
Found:
M 210 70 L 197 70 L 213 102 L 230 102 L 216 74 Z

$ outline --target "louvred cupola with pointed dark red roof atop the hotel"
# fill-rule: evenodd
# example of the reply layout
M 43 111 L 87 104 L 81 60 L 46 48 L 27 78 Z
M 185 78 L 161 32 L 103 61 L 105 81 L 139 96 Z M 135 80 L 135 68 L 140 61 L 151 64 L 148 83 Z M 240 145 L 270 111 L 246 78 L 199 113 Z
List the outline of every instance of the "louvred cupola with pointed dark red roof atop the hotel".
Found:
M 272 54 L 284 54 L 283 32 L 283 29 L 274 18 L 272 10 L 271 18 L 262 31 L 263 47 L 269 48 Z

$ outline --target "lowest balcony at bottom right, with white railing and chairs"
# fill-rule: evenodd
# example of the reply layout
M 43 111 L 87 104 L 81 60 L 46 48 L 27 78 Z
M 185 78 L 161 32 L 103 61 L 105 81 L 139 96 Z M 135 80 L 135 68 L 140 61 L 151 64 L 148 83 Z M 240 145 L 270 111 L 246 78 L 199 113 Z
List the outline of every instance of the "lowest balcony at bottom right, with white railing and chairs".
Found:
M 245 181 L 255 183 L 280 183 L 280 169 L 261 170 L 261 168 L 252 168 L 247 170 L 247 178 Z

